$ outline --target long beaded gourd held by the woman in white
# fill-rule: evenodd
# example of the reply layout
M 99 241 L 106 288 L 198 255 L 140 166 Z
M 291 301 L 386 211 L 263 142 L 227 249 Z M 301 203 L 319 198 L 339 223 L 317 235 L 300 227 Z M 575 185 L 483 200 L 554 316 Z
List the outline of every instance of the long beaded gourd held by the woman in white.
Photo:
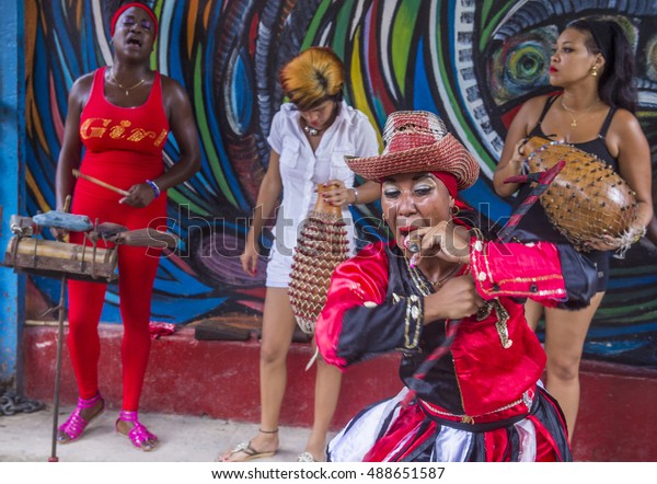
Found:
M 288 295 L 297 324 L 307 334 L 314 334 L 333 270 L 349 256 L 342 209 L 322 197 L 327 189 L 318 187 L 318 201 L 308 214 L 292 257 Z

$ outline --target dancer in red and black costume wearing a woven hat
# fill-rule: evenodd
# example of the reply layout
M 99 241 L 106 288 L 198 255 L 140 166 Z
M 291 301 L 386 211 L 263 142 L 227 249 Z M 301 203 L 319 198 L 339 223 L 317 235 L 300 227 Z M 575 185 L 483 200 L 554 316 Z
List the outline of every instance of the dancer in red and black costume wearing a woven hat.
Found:
M 545 354 L 518 300 L 586 299 L 587 281 L 564 277 L 570 253 L 468 232 L 454 207 L 479 164 L 436 115 L 392 113 L 383 139 L 381 155 L 346 162 L 381 183 L 394 241 L 336 268 L 315 335 L 342 369 L 401 352 L 404 389 L 354 417 L 328 459 L 572 460 L 563 414 L 539 381 Z

